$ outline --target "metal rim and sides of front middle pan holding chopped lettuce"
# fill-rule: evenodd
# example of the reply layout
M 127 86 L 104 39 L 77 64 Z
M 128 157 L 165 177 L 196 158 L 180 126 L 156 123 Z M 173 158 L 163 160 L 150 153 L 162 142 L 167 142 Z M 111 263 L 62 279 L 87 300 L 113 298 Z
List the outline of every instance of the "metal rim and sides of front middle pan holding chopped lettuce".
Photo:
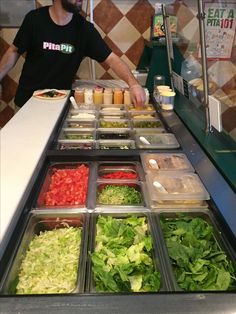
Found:
M 92 219 L 91 219 L 91 228 L 90 228 L 90 242 L 89 242 L 89 255 L 88 255 L 88 267 L 87 267 L 87 277 L 86 277 L 86 292 L 88 293 L 116 293 L 115 291 L 107 291 L 107 292 L 101 292 L 98 291 L 98 289 L 96 289 L 96 285 L 95 285 L 95 280 L 94 280 L 94 274 L 93 274 L 93 263 L 92 263 L 92 254 L 94 253 L 94 251 L 96 250 L 96 252 L 98 251 L 98 247 L 100 245 L 102 245 L 102 239 L 99 239 L 98 241 L 98 247 L 96 248 L 96 236 L 97 236 L 97 221 L 99 219 L 99 217 L 104 217 L 104 218 L 108 218 L 111 217 L 112 219 L 128 219 L 128 218 L 145 218 L 146 223 L 147 223 L 147 235 L 151 235 L 152 238 L 152 250 L 151 250 L 151 259 L 152 259 L 152 263 L 154 265 L 154 269 L 155 271 L 159 271 L 160 272 L 160 278 L 161 278 L 161 284 L 160 284 L 160 289 L 159 292 L 164 292 L 164 291 L 168 291 L 169 290 L 169 283 L 166 281 L 166 274 L 163 271 L 163 265 L 162 265 L 162 259 L 160 257 L 161 252 L 159 247 L 156 244 L 156 240 L 155 240 L 155 236 L 153 235 L 153 225 L 151 222 L 151 216 L 148 213 L 112 213 L 112 214 L 108 214 L 108 213 L 103 213 L 103 214 L 93 214 L 92 215 Z M 114 238 L 115 243 L 117 243 L 117 241 L 115 240 L 116 235 L 111 235 Z M 104 235 L 104 237 L 106 238 L 106 235 Z M 125 241 L 122 244 L 122 247 L 125 247 Z M 130 247 L 132 246 L 132 243 L 130 243 Z M 109 248 L 106 245 L 107 250 L 109 250 Z M 127 245 L 127 249 L 125 250 L 126 252 L 128 252 L 129 249 L 129 245 Z M 113 255 L 112 255 L 113 256 Z M 124 258 L 129 258 L 128 254 L 124 254 Z M 128 260 L 128 263 L 132 263 L 130 260 Z M 150 267 L 150 266 L 149 266 Z M 111 273 L 111 272 L 110 272 Z M 105 272 L 104 272 L 105 274 Z M 125 289 L 124 289 L 125 290 Z M 147 291 L 148 292 L 148 291 Z M 158 291 L 156 291 L 158 292 Z M 127 291 L 122 291 L 122 292 L 118 292 L 118 293 L 130 293 Z M 136 292 L 131 292 L 131 293 L 136 293 Z

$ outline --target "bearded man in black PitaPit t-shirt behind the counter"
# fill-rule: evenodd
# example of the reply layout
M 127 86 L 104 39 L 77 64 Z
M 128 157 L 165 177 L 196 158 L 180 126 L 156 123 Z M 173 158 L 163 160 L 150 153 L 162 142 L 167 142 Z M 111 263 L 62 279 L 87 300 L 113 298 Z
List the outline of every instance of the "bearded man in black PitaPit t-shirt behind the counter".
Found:
M 0 61 L 0 81 L 26 52 L 15 103 L 22 107 L 38 89 L 70 89 L 84 57 L 105 62 L 130 87 L 133 102 L 142 106 L 145 93 L 128 66 L 79 12 L 83 0 L 54 0 L 30 11 L 13 44 Z

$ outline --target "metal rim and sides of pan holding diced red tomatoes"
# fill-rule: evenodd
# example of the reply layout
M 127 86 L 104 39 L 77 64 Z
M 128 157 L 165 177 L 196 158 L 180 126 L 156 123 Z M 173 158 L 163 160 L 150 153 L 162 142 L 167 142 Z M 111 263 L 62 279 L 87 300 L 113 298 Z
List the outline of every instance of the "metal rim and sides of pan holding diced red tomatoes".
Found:
M 86 167 L 88 167 L 88 186 L 89 186 L 89 174 L 90 174 L 90 169 L 91 169 L 91 164 L 88 162 L 58 162 L 58 163 L 51 163 L 48 165 L 48 168 L 46 170 L 46 175 L 45 178 L 43 178 L 42 181 L 42 185 L 40 187 L 40 191 L 39 191 L 39 195 L 37 196 L 36 199 L 36 209 L 75 209 L 75 208 L 85 208 L 86 204 L 87 204 L 87 200 L 88 200 L 88 189 L 87 189 L 87 196 L 86 196 L 86 200 L 83 204 L 74 204 L 74 205 L 70 205 L 70 204 L 60 204 L 60 205 L 46 205 L 46 193 L 48 193 L 49 189 L 50 189 L 50 184 L 51 184 L 51 178 L 52 175 L 54 175 L 57 171 L 60 170 L 75 170 L 78 167 L 81 167 L 82 165 L 85 165 Z M 63 179 L 64 180 L 64 179 Z M 63 181 L 61 179 L 60 183 L 63 184 Z M 65 186 L 66 186 L 66 180 L 67 177 L 65 177 Z M 79 178 L 78 178 L 79 180 Z M 68 186 L 67 186 L 68 189 Z M 66 193 L 66 191 L 65 191 Z M 55 193 L 54 193 L 55 194 Z

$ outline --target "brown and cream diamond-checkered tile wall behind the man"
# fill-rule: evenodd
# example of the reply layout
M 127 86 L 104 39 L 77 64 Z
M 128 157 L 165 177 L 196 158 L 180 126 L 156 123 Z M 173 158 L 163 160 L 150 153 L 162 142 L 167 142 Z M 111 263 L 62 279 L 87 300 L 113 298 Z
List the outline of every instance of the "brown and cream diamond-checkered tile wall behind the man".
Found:
M 151 16 L 154 13 L 156 0 L 94 0 L 94 22 L 104 40 L 113 51 L 123 59 L 131 69 L 138 64 L 144 47 L 144 40 L 150 37 Z M 196 18 L 197 1 L 161 1 L 162 3 L 175 2 L 175 11 L 178 16 L 178 32 L 189 42 L 199 40 L 198 20 Z M 37 0 L 38 6 L 50 5 L 51 0 Z M 84 0 L 83 11 L 89 0 Z M 190 8 L 191 7 L 191 8 Z M 85 12 L 84 12 L 85 14 Z M 86 15 L 86 14 L 85 14 Z M 0 57 L 12 42 L 17 29 L 0 29 Z M 184 51 L 183 51 L 184 53 Z M 215 93 L 221 98 L 229 95 L 224 102 L 222 117 L 225 129 L 236 137 L 236 95 L 233 94 L 236 86 L 236 39 L 231 61 L 214 61 L 209 64 L 209 73 L 217 85 Z M 17 65 L 4 78 L 3 100 L 0 104 L 0 127 L 14 114 L 13 98 L 17 88 L 24 57 L 20 57 Z M 116 78 L 111 69 L 104 64 L 95 65 L 97 79 Z M 78 78 L 91 78 L 91 64 L 85 59 L 79 71 Z M 234 117 L 234 121 L 232 121 Z M 229 121 L 230 118 L 230 121 Z

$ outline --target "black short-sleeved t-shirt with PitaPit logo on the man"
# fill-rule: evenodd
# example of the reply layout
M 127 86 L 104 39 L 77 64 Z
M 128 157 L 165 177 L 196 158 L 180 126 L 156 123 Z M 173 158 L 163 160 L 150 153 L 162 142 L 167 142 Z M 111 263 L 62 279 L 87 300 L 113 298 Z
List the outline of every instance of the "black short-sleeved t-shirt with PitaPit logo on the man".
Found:
M 49 7 L 30 11 L 16 34 L 13 44 L 18 53 L 26 52 L 15 103 L 22 106 L 37 89 L 70 89 L 84 57 L 103 62 L 111 49 L 93 24 L 81 15 L 59 26 Z

